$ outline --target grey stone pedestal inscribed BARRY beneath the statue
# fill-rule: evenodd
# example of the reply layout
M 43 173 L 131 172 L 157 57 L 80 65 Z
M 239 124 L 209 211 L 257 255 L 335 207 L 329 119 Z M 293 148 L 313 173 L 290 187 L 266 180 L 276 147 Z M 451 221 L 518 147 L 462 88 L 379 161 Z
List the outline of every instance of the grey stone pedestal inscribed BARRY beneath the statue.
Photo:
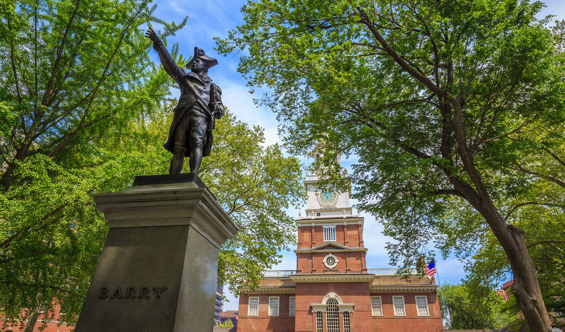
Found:
M 110 230 L 75 331 L 211 332 L 219 248 L 238 229 L 202 181 L 137 177 L 94 200 Z

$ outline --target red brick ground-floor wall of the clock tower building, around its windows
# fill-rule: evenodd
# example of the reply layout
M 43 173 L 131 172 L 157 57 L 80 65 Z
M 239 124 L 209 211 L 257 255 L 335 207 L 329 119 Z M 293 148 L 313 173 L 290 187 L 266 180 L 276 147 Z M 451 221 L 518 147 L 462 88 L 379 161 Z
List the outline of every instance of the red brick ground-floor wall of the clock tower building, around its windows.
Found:
M 370 292 L 367 282 L 299 282 L 296 285 L 296 315 L 288 316 L 289 296 L 294 294 L 241 294 L 237 332 L 312 332 L 316 330 L 311 303 L 321 303 L 328 292 L 336 292 L 343 303 L 354 303 L 351 332 L 438 332 L 443 331 L 437 293 Z M 406 316 L 394 316 L 392 296 L 402 295 Z M 428 298 L 429 316 L 418 316 L 415 296 Z M 247 316 L 249 296 L 259 296 L 259 316 Z M 279 296 L 279 316 L 268 316 L 269 296 Z M 381 296 L 383 316 L 372 316 L 371 297 Z M 326 320 L 324 313 L 324 330 Z M 343 316 L 340 323 L 343 331 Z

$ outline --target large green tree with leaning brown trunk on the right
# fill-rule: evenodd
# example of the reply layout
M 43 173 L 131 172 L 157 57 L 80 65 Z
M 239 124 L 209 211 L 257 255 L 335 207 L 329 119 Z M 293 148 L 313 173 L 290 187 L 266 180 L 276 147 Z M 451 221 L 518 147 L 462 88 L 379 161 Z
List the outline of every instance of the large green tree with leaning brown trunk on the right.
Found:
M 532 185 L 513 168 L 518 156 L 531 156 L 528 134 L 555 136 L 565 120 L 563 56 L 547 20 L 535 17 L 541 7 L 250 1 L 245 23 L 218 40 L 218 50 L 249 51 L 239 70 L 249 85 L 270 88 L 257 102 L 278 112 L 290 151 L 306 154 L 324 142 L 325 163 L 337 152 L 359 157 L 350 177 L 355 197 L 396 239 L 388 244 L 393 262 L 412 265 L 430 235 L 441 241 L 438 226 L 460 198 L 484 225 L 466 230 L 492 232 L 528 325 L 546 332 L 524 230 L 503 212 Z

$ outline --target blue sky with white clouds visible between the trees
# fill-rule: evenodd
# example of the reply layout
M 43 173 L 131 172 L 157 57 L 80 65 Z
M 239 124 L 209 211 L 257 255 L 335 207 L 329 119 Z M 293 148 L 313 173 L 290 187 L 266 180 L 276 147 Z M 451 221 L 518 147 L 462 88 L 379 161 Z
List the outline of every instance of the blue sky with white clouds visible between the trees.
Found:
M 222 100 L 229 107 L 239 120 L 249 125 L 259 125 L 265 130 L 266 144 L 281 142 L 277 133 L 277 120 L 275 114 L 265 108 L 257 108 L 253 103 L 253 95 L 249 93 L 246 81 L 237 72 L 237 56 L 218 55 L 214 50 L 214 37 L 225 38 L 229 30 L 236 25 L 243 23 L 240 8 L 245 5 L 246 0 L 209 0 L 202 2 L 185 2 L 180 0 L 157 0 L 158 7 L 155 16 L 165 21 L 175 21 L 180 23 L 186 15 L 189 16 L 186 26 L 177 32 L 176 36 L 167 39 L 170 47 L 173 43 L 180 43 L 180 53 L 185 56 L 192 55 L 194 46 L 198 46 L 210 55 L 218 59 L 218 65 L 210 69 L 209 75 L 216 84 L 222 89 Z M 565 3 L 563 0 L 551 0 L 545 2 L 545 7 L 540 13 L 540 17 L 555 15 L 554 19 L 565 19 Z M 158 29 L 158 25 L 154 25 Z M 158 55 L 155 51 L 150 51 L 152 59 L 158 62 Z M 260 94 L 259 89 L 255 89 L 255 94 Z M 172 93 L 176 96 L 179 91 Z M 303 163 L 311 160 L 301 156 Z M 342 166 L 351 169 L 355 164 L 355 159 L 342 160 Z M 351 200 L 351 204 L 357 203 Z M 297 217 L 298 210 L 290 209 L 290 216 Z M 364 245 L 368 248 L 367 267 L 368 268 L 387 268 L 389 267 L 388 254 L 384 248 L 385 243 L 390 238 L 382 234 L 383 225 L 375 221 L 370 215 L 364 214 Z M 294 252 L 282 252 L 282 262 L 273 269 L 290 270 L 296 268 L 296 257 Z M 463 263 L 449 257 L 447 260 L 438 259 L 437 269 L 440 281 L 457 283 L 465 277 Z M 232 294 L 227 295 L 230 302 L 224 303 L 224 310 L 237 310 L 238 300 Z

